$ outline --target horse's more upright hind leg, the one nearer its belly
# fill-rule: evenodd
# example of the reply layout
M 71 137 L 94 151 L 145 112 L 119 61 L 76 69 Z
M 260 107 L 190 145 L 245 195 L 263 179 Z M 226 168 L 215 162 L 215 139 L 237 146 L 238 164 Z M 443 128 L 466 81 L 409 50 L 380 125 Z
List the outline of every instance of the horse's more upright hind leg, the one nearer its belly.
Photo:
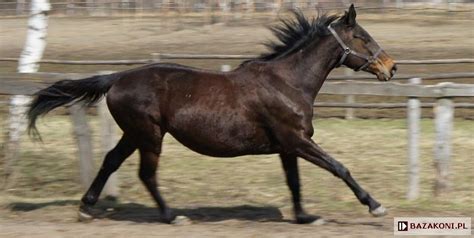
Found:
M 160 191 L 158 190 L 157 183 L 157 168 L 160 160 L 161 152 L 161 141 L 157 145 L 158 148 L 146 149 L 140 148 L 140 171 L 139 177 L 143 182 L 147 190 L 158 205 L 161 213 L 161 219 L 163 222 L 171 223 L 175 216 L 171 213 L 170 208 L 166 205 L 165 200 L 161 197 Z

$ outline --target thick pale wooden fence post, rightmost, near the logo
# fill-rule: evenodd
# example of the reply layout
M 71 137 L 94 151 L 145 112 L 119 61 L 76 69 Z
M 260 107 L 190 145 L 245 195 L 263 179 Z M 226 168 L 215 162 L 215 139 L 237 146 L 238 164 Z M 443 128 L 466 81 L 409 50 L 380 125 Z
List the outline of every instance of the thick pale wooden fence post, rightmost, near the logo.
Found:
M 451 132 L 453 129 L 454 105 L 451 98 L 439 98 L 434 108 L 436 141 L 434 165 L 436 167 L 435 196 L 450 189 L 449 169 L 451 164 Z

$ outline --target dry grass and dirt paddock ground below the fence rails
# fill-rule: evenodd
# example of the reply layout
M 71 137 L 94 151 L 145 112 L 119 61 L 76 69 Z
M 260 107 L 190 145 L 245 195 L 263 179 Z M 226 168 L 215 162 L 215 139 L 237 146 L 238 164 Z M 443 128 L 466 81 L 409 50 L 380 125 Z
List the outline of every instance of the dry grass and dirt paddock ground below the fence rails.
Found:
M 94 131 L 97 167 L 99 124 Z M 453 132 L 452 190 L 433 198 L 432 121 L 422 120 L 421 196 L 405 200 L 406 126 L 404 120 L 317 119 L 314 139 L 344 163 L 353 176 L 389 209 L 373 218 L 358 204 L 343 182 L 300 161 L 306 209 L 323 216 L 323 226 L 292 224 L 290 194 L 277 156 L 212 158 L 196 154 L 165 137 L 159 169 L 160 188 L 170 206 L 191 219 L 190 225 L 159 224 L 153 202 L 137 176 L 132 155 L 117 172 L 118 204 L 101 202 L 104 218 L 77 222 L 78 161 L 67 116 L 47 116 L 39 122 L 45 144 L 25 138 L 18 161 L 17 186 L 0 196 L 0 235 L 51 237 L 100 234 L 105 236 L 235 236 L 313 237 L 392 234 L 393 216 L 474 215 L 473 122 L 456 120 Z M 97 168 L 96 167 L 96 168 Z

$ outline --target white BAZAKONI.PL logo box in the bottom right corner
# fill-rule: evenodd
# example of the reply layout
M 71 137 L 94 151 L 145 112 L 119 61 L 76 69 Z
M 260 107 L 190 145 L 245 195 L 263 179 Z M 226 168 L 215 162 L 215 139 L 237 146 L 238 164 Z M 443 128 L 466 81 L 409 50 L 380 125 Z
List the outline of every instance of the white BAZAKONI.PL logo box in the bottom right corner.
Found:
M 471 235 L 470 217 L 395 217 L 395 235 Z

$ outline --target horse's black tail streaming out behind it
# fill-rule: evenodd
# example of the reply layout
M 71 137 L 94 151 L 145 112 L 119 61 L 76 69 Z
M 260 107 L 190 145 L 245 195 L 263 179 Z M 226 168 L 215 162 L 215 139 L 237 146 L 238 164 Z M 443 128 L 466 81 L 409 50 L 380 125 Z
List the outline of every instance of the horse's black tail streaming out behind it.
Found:
M 97 102 L 109 91 L 117 75 L 97 75 L 80 80 L 61 80 L 35 94 L 28 110 L 28 133 L 39 137 L 36 119 L 49 111 L 68 103 L 85 102 L 87 105 Z

